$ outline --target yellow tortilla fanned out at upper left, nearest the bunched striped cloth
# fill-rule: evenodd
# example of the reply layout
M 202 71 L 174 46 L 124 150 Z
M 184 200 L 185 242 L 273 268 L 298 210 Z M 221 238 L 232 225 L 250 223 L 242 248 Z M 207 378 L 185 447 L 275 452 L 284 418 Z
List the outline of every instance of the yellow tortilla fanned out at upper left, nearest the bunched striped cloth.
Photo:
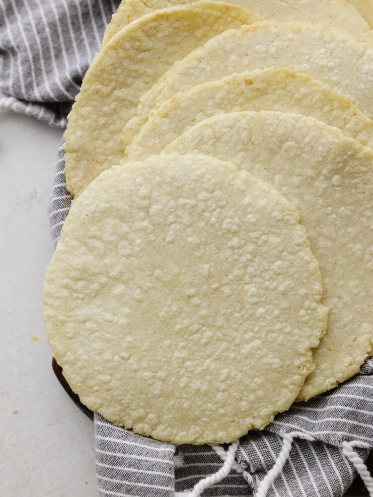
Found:
M 201 0 L 158 10 L 124 27 L 96 55 L 69 114 L 68 190 L 78 195 L 101 171 L 119 163 L 124 125 L 140 97 L 175 61 L 225 29 L 258 19 L 244 8 Z

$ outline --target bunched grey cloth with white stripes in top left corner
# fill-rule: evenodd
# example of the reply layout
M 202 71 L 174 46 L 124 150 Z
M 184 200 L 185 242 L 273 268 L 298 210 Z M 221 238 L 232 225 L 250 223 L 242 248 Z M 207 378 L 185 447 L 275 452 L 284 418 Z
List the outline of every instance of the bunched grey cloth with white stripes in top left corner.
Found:
M 0 106 L 64 128 L 119 0 L 0 0 Z

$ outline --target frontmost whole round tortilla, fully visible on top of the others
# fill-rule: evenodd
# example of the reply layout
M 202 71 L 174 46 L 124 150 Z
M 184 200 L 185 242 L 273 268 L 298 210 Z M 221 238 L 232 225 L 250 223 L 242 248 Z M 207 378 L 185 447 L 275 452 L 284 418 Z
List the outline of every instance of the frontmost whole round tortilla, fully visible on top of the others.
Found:
M 74 200 L 44 283 L 80 400 L 172 443 L 230 442 L 287 410 L 324 333 L 298 210 L 216 159 L 113 166 Z

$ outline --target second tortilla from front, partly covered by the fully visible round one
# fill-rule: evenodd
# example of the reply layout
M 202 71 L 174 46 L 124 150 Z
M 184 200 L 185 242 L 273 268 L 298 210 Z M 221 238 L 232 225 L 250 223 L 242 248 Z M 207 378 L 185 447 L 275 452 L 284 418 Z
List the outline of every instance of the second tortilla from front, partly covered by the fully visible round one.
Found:
M 311 117 L 266 111 L 212 117 L 166 151 L 231 161 L 298 206 L 329 307 L 298 400 L 357 373 L 373 352 L 373 151 Z

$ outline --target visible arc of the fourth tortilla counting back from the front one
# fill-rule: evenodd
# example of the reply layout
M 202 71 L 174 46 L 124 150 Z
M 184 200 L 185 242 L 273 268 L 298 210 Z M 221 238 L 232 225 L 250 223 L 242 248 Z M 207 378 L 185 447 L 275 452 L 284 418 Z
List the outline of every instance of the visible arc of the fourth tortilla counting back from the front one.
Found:
M 149 112 L 177 92 L 234 73 L 272 66 L 305 73 L 329 84 L 373 118 L 370 45 L 321 24 L 258 22 L 225 31 L 167 71 L 141 98 L 137 115 L 128 124 L 124 145 L 139 133 Z

